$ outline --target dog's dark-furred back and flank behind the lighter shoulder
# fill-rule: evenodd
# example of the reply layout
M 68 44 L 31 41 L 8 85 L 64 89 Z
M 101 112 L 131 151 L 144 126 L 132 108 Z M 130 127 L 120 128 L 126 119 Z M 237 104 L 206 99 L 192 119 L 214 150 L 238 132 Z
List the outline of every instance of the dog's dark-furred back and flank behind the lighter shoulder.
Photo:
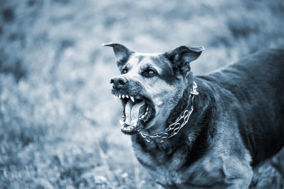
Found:
M 252 166 L 283 146 L 283 60 L 282 49 L 268 49 L 201 76 L 213 89 L 221 90 L 217 98 L 222 98 L 224 108 L 237 118 L 243 142 L 253 158 Z M 235 105 L 230 104 L 232 97 L 237 99 Z

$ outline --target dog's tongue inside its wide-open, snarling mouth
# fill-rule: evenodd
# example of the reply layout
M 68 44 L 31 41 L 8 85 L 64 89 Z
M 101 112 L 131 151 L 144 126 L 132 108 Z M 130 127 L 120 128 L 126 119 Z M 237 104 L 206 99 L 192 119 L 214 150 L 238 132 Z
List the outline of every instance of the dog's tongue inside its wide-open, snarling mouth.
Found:
M 128 125 L 132 125 L 135 127 L 137 125 L 137 121 L 140 114 L 143 114 L 146 109 L 146 103 L 144 101 L 134 104 L 131 100 L 128 100 L 125 106 L 125 115 L 126 121 L 125 123 Z

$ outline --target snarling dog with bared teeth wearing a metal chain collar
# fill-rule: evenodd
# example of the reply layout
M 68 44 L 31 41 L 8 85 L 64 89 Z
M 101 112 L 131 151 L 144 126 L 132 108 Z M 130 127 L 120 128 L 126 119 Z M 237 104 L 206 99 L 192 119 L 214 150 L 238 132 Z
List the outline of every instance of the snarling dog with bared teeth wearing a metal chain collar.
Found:
M 253 170 L 283 147 L 283 49 L 266 49 L 207 75 L 190 64 L 204 47 L 165 53 L 113 47 L 121 75 L 121 131 L 166 188 L 248 188 Z

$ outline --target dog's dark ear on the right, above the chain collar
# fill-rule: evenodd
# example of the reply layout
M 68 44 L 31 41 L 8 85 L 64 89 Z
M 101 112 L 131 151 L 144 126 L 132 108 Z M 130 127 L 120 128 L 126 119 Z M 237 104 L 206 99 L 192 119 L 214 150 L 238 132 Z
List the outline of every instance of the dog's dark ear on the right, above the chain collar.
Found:
M 172 62 L 175 74 L 185 74 L 191 69 L 189 63 L 196 60 L 204 50 L 202 46 L 180 46 L 164 54 Z

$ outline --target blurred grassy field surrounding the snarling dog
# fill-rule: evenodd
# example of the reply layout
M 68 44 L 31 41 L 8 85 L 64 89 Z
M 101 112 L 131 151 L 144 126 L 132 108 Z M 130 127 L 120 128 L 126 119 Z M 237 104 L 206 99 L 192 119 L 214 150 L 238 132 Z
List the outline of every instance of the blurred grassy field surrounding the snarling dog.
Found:
M 205 47 L 195 75 L 283 48 L 283 1 L 0 1 L 1 188 L 157 188 L 120 132 L 111 47 Z M 269 163 L 253 187 L 283 187 Z

